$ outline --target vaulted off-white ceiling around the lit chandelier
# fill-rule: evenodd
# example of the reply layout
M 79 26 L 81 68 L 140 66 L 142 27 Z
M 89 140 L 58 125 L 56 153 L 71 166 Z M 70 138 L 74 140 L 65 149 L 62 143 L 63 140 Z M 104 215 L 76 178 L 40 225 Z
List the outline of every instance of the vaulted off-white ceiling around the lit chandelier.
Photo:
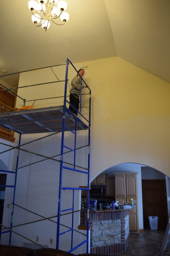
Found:
M 170 83 L 170 0 L 66 2 L 69 21 L 45 32 L 28 0 L 0 1 L 0 75 L 118 56 Z

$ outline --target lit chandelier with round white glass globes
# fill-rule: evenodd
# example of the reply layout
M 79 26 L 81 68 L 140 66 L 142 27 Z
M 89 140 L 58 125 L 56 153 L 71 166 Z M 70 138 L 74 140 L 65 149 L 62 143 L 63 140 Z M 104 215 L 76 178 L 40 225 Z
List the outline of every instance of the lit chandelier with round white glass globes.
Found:
M 36 27 L 41 26 L 46 31 L 50 26 L 50 21 L 56 25 L 64 25 L 69 20 L 69 14 L 64 12 L 67 8 L 67 3 L 63 0 L 57 2 L 58 0 L 38 0 L 38 3 L 31 0 L 28 2 L 28 8 L 32 12 L 32 21 Z M 55 22 L 59 17 L 63 22 L 62 24 Z

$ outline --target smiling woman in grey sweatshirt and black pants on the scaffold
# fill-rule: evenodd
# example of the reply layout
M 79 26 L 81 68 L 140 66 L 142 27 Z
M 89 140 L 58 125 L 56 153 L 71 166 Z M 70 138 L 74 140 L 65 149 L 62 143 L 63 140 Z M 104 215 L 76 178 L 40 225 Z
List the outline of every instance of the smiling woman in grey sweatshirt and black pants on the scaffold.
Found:
M 69 106 L 70 111 L 72 111 L 76 116 L 79 108 L 79 97 L 81 94 L 81 88 L 88 87 L 87 85 L 81 86 L 81 77 L 84 75 L 84 69 L 79 69 L 77 76 L 75 76 L 71 81 L 70 89 L 70 104 L 75 107 L 74 109 L 71 105 Z

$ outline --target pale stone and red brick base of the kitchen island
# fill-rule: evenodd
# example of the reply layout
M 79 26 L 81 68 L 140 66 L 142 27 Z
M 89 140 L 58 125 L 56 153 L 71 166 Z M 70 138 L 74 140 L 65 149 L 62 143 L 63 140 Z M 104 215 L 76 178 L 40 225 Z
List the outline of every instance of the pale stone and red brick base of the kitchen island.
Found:
M 82 210 L 80 223 L 86 226 L 87 211 Z M 129 244 L 129 210 L 89 211 L 90 253 L 125 252 Z

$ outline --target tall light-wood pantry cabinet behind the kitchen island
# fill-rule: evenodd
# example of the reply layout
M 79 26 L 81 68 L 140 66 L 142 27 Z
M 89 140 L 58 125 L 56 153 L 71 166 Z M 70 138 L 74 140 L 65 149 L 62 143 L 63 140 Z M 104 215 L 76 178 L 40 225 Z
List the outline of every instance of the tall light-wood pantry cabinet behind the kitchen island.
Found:
M 137 172 L 119 172 L 115 174 L 115 199 L 119 205 L 129 204 L 133 198 L 135 207 L 129 210 L 130 231 L 139 232 L 137 210 Z

